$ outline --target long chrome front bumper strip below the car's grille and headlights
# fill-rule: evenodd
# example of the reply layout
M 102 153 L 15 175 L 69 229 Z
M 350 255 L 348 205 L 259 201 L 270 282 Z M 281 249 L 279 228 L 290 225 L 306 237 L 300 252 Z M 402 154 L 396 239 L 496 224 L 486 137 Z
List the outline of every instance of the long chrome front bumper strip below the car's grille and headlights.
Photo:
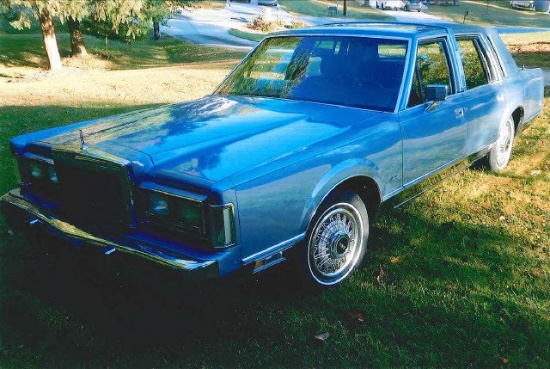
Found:
M 196 261 L 189 259 L 182 259 L 170 254 L 167 254 L 161 250 L 154 249 L 150 246 L 146 246 L 140 243 L 132 245 L 133 247 L 122 245 L 102 237 L 96 237 L 82 229 L 75 227 L 72 224 L 64 222 L 54 216 L 49 216 L 45 211 L 38 208 L 36 205 L 20 197 L 19 190 L 13 190 L 5 194 L 0 198 L 1 202 L 11 204 L 22 210 L 28 212 L 31 216 L 34 216 L 36 221 L 53 227 L 62 234 L 96 246 L 109 246 L 122 252 L 139 256 L 141 258 L 156 262 L 161 265 L 169 266 L 181 271 L 196 271 L 205 268 L 215 268 L 217 262 L 215 260 Z M 34 221 L 34 220 L 33 220 Z M 216 268 L 217 269 L 217 268 Z

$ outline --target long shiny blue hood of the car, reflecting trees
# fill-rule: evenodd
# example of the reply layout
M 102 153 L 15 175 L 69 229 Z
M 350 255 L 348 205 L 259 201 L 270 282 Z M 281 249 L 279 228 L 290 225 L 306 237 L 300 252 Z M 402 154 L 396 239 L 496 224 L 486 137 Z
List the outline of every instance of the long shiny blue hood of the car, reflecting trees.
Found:
M 303 152 L 383 114 L 303 101 L 212 95 L 189 103 L 108 117 L 82 128 L 85 146 L 131 159 L 153 171 L 211 181 Z M 42 142 L 81 145 L 79 130 Z

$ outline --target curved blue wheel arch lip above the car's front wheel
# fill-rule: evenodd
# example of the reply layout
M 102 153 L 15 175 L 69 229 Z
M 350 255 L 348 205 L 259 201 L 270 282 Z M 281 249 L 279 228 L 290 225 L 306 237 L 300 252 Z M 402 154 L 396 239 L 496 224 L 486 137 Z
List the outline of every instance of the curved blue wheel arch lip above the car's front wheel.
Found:
M 355 177 L 371 178 L 380 188 L 381 178 L 376 164 L 366 159 L 348 159 L 341 162 L 325 173 L 315 186 L 304 207 L 300 229 L 303 229 L 304 232 L 307 230 L 315 212 L 332 190 L 346 180 Z

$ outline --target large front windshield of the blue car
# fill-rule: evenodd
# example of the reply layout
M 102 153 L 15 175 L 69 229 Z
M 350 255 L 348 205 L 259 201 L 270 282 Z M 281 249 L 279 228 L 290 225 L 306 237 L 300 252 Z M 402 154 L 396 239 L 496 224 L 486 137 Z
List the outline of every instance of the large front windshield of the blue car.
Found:
M 268 38 L 216 93 L 393 111 L 407 46 L 367 37 Z

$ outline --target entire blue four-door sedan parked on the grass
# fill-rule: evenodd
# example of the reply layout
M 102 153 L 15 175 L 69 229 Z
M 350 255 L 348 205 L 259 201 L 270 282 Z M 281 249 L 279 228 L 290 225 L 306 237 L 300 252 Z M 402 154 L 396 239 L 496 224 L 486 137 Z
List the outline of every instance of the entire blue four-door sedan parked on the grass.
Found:
M 383 205 L 478 159 L 502 170 L 542 101 L 541 71 L 491 29 L 284 31 L 202 99 L 13 138 L 21 183 L 2 211 L 14 230 L 188 277 L 290 259 L 331 286 Z

